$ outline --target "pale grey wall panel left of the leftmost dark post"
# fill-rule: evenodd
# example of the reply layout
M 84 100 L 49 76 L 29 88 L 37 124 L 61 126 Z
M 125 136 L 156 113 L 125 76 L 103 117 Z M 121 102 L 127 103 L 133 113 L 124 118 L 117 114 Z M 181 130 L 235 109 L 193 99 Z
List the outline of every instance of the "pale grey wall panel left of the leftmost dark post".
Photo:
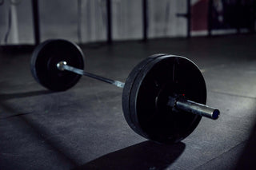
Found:
M 0 44 L 33 43 L 31 3 L 0 0 Z

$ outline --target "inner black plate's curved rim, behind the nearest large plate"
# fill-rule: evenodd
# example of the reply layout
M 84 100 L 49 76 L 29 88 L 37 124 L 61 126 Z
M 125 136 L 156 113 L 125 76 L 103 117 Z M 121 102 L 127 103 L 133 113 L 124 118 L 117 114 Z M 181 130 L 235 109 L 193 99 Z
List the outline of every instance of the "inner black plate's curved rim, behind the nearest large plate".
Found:
M 134 80 L 138 76 L 138 73 L 140 73 L 150 61 L 154 60 L 157 57 L 162 57 L 164 55 L 166 55 L 166 54 L 158 53 L 158 54 L 154 54 L 150 57 L 146 57 L 146 59 L 142 60 L 141 62 L 138 63 L 138 65 L 136 65 L 134 67 L 134 69 L 130 72 L 129 76 L 126 79 L 126 84 L 122 91 L 122 110 L 123 110 L 123 113 L 124 113 L 124 116 L 126 118 L 128 125 L 130 125 L 130 128 L 132 128 L 135 132 L 137 132 L 139 129 L 131 121 L 132 117 L 130 115 L 130 106 L 129 106 L 130 91 L 133 88 Z

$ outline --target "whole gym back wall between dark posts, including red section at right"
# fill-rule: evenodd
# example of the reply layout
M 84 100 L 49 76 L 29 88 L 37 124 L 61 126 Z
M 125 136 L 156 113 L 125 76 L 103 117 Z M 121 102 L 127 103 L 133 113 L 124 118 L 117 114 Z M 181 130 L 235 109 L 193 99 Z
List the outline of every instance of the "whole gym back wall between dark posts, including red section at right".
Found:
M 31 2 L 32 0 L 0 0 L 0 45 L 34 44 Z M 106 41 L 106 2 L 106 0 L 38 0 L 41 42 L 49 38 L 64 38 L 73 42 Z M 113 39 L 141 39 L 143 1 L 111 0 L 111 2 Z M 255 0 L 147 0 L 147 2 L 149 38 L 186 37 L 187 2 L 190 2 L 192 14 L 190 20 L 192 35 L 207 35 L 210 11 L 211 29 L 220 30 L 217 34 L 229 33 L 230 30 L 227 29 L 233 29 L 232 33 L 236 33 L 239 21 L 241 23 L 249 21 L 250 23 L 246 22 L 244 25 L 250 25 L 250 30 L 255 30 Z M 208 8 L 209 4 L 212 8 Z M 250 6 L 254 8 L 249 9 Z M 183 17 L 177 17 L 177 14 L 182 14 Z

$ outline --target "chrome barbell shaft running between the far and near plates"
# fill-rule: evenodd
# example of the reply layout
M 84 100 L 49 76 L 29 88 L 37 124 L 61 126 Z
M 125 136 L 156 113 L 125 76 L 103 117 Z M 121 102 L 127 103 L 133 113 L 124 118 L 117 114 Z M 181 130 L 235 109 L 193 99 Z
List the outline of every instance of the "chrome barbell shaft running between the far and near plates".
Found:
M 59 70 L 67 70 L 67 71 L 70 71 L 70 72 L 73 72 L 73 73 L 77 73 L 79 75 L 82 75 L 82 76 L 87 76 L 87 77 L 91 77 L 91 78 L 94 78 L 94 79 L 97 79 L 99 81 L 104 81 L 106 83 L 109 83 L 111 85 L 115 85 L 119 88 L 123 88 L 125 83 L 121 82 L 121 81 L 115 81 L 115 80 L 111 80 L 109 78 L 106 78 L 106 77 L 101 77 L 101 76 L 98 76 L 96 74 L 93 74 L 93 73 L 88 73 L 82 69 L 78 69 L 78 68 L 75 68 L 73 66 L 70 66 L 70 65 L 67 65 L 66 64 L 66 61 L 60 61 L 58 62 L 57 64 L 57 68 Z

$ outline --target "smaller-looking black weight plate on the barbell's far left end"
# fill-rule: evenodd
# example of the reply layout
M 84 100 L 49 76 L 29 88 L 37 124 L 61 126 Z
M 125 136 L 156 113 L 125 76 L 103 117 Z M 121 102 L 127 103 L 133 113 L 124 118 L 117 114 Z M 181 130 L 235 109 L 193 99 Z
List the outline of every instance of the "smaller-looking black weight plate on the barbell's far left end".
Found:
M 84 67 L 83 53 L 78 45 L 62 39 L 47 40 L 32 54 L 30 69 L 34 79 L 52 91 L 64 91 L 76 85 L 81 75 L 58 70 L 59 61 L 66 61 L 78 69 Z

